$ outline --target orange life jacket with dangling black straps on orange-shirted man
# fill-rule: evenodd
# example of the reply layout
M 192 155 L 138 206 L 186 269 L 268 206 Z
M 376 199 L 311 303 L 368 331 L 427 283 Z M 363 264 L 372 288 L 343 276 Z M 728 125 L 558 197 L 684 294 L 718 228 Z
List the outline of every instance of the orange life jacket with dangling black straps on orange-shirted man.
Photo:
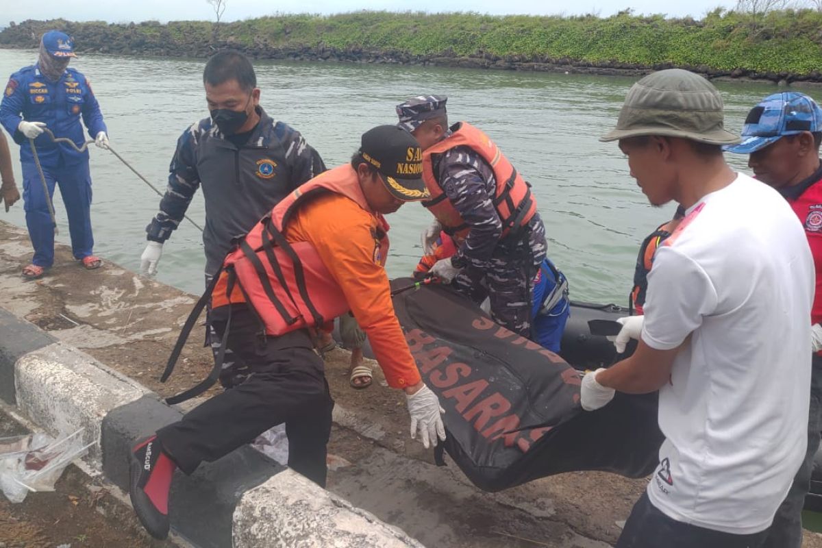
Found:
M 256 223 L 226 256 L 221 272 L 217 273 L 183 326 L 160 380 L 164 382 L 171 375 L 188 333 L 212 292 L 214 297 L 219 297 L 215 298 L 215 307 L 229 305 L 229 320 L 214 369 L 199 385 L 168 398 L 168 403 L 193 398 L 216 382 L 229 334 L 231 303 L 246 302 L 261 321 L 266 334 L 275 336 L 323 325 L 349 311 L 342 288 L 330 275 L 314 246 L 308 242 L 288 242 L 284 234 L 289 219 L 298 208 L 326 192 L 345 196 L 363 210 L 371 211 L 357 172 L 350 164 L 321 173 L 275 205 L 270 214 Z M 381 228 L 376 234 L 379 247 L 375 250 L 375 258 L 378 256 L 378 262 L 385 265 L 388 225 L 381 215 L 378 214 L 378 218 Z

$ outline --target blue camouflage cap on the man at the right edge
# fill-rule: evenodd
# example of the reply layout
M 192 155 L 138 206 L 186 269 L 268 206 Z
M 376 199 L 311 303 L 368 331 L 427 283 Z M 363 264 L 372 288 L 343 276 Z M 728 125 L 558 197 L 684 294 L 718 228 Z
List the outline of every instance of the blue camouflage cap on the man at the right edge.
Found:
M 736 154 L 751 154 L 787 135 L 822 131 L 822 108 L 798 91 L 769 95 L 750 109 L 739 145 L 723 146 Z

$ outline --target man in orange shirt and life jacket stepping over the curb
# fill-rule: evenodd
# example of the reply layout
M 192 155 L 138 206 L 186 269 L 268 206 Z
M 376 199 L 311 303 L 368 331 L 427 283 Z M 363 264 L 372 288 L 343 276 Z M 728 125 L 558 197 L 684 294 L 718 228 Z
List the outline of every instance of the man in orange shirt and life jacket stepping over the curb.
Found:
M 169 486 L 285 423 L 289 467 L 326 485 L 330 397 L 312 330 L 353 311 L 388 384 L 405 392 L 411 437 L 445 440 L 440 403 L 420 378 L 391 304 L 386 222 L 429 194 L 416 140 L 395 126 L 363 135 L 351 163 L 314 177 L 275 205 L 224 261 L 212 294 L 216 333 L 250 366 L 242 384 L 136 444 L 132 505 L 152 536 L 169 532 Z M 262 338 L 261 330 L 266 337 Z

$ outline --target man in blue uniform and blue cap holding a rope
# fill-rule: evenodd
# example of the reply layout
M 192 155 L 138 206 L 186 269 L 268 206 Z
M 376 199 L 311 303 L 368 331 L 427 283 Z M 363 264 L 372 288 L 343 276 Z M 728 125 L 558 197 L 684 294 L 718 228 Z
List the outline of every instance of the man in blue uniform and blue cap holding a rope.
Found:
M 54 261 L 54 229 L 48 208 L 55 184 L 60 185 L 66 205 L 74 258 L 86 269 L 101 265 L 93 253 L 88 150 L 77 152 L 71 145 L 55 143 L 44 135 L 48 128 L 55 137 L 65 137 L 81 146 L 85 141 L 82 117 L 97 146 L 106 148 L 109 143 L 103 114 L 89 81 L 68 68 L 74 57 L 74 41 L 58 30 L 48 31 L 40 40 L 37 63 L 12 74 L 0 103 L 0 123 L 21 145 L 25 223 L 35 248 L 31 264 L 23 269 L 26 279 L 41 277 Z M 35 142 L 48 196 L 29 140 Z

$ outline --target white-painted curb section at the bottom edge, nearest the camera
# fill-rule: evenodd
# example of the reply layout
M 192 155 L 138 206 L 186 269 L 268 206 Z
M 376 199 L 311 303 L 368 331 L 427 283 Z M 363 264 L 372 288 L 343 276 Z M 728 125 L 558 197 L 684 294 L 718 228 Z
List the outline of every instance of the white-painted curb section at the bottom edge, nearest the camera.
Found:
M 242 495 L 233 538 L 234 548 L 423 548 L 292 470 Z

